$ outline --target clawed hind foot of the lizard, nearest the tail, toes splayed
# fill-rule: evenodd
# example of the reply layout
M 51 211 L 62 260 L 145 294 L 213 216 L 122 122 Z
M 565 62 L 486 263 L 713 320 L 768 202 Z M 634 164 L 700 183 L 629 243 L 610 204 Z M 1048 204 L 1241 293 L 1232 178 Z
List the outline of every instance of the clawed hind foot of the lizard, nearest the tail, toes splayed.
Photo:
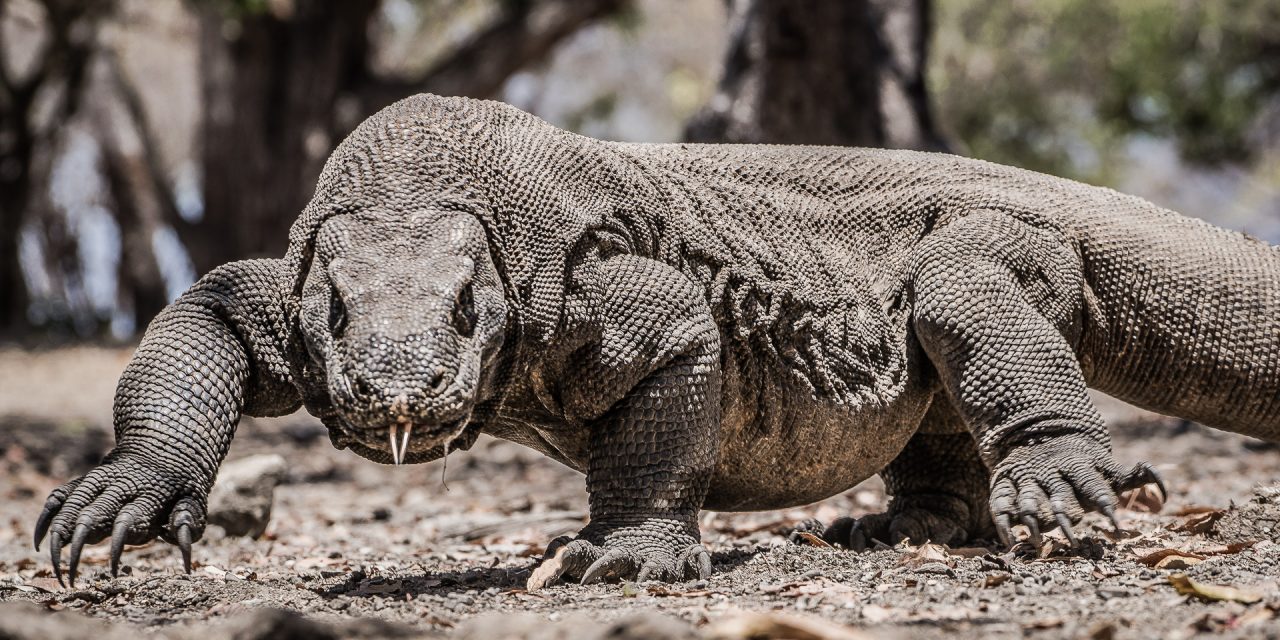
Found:
M 1002 543 L 1011 544 L 1010 527 L 1027 525 L 1032 544 L 1039 545 L 1041 531 L 1061 527 L 1076 544 L 1071 526 L 1087 511 L 1116 518 L 1119 495 L 1129 489 L 1155 484 L 1167 495 L 1160 474 L 1146 462 L 1125 468 L 1111 457 L 1105 444 L 1087 438 L 1061 436 L 1016 447 L 995 468 L 991 488 L 991 516 Z

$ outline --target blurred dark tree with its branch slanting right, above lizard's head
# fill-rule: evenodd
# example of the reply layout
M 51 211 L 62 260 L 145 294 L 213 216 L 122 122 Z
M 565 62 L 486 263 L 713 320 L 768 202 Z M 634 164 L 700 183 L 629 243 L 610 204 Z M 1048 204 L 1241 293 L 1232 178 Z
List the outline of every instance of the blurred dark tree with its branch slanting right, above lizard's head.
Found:
M 467 40 L 399 77 L 371 65 L 380 0 L 192 4 L 201 22 L 205 214 L 178 228 L 204 273 L 229 260 L 280 255 L 329 151 L 367 115 L 424 91 L 490 97 L 511 74 L 626 0 L 499 1 Z

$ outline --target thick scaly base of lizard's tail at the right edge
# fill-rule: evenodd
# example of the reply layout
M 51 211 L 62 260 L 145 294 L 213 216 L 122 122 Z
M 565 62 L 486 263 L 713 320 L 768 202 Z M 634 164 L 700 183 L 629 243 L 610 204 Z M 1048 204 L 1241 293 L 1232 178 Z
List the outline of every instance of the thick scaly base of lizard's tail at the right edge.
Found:
M 1280 247 L 1111 191 L 1070 215 L 1089 385 L 1280 440 Z

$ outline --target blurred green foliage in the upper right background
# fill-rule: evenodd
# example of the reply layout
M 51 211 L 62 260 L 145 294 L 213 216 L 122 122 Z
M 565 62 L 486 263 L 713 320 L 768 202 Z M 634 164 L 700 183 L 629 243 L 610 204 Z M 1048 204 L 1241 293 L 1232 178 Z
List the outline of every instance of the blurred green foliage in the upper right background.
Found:
M 1243 163 L 1280 93 L 1275 0 L 937 0 L 931 82 L 969 152 L 1094 182 L 1133 136 Z

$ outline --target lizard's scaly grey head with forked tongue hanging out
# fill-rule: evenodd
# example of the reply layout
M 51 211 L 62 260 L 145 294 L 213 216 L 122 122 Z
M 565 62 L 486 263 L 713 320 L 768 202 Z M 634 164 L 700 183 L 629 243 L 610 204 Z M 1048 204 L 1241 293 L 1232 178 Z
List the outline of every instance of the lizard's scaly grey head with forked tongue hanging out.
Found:
M 398 465 L 460 438 L 506 323 L 502 283 L 471 215 L 360 212 L 317 232 L 300 324 L 356 451 L 387 452 Z

